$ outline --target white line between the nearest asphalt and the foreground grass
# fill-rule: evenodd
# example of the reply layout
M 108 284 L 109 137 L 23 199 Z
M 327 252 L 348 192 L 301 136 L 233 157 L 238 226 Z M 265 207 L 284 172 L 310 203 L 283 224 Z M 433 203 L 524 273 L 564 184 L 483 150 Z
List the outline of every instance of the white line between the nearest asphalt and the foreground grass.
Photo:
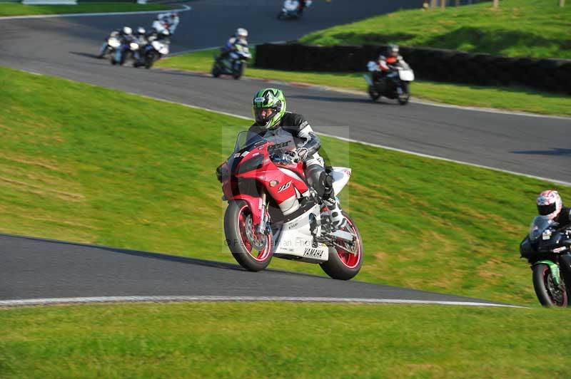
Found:
M 97 296 L 71 298 L 26 298 L 2 300 L 1 306 L 38 306 L 67 303 L 124 303 L 124 302 L 166 302 L 166 301 L 295 301 L 303 303 L 370 303 L 370 304 L 424 304 L 443 306 L 487 306 L 504 308 L 525 308 L 496 303 L 475 301 L 406 300 L 400 298 L 333 298 L 298 296 Z

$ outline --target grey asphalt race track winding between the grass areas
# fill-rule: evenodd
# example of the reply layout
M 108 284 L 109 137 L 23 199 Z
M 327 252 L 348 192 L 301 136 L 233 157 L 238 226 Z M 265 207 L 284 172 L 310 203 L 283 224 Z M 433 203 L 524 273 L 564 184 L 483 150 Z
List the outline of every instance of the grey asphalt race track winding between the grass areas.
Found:
M 278 21 L 281 1 L 192 1 L 181 13 L 172 51 L 218 46 L 245 26 L 251 43 L 286 41 L 370 14 L 418 6 L 418 0 L 315 1 L 303 21 Z M 153 14 L 0 19 L 0 65 L 131 93 L 250 116 L 263 83 L 111 66 L 94 58 L 123 25 L 149 26 Z M 247 72 L 247 71 L 246 71 Z M 246 73 L 247 75 L 247 73 Z M 282 85 L 288 108 L 321 133 L 568 182 L 571 119 L 488 113 L 411 103 L 373 104 L 354 95 Z M 565 138 L 567 137 L 567 138 Z M 375 164 L 375 162 L 372 162 Z M 41 231 L 39 231 L 41 234 Z M 419 301 L 474 299 L 342 282 L 282 271 L 251 274 L 238 266 L 138 251 L 0 235 L 0 300 L 75 296 L 320 296 Z M 481 302 L 481 301 L 480 301 Z

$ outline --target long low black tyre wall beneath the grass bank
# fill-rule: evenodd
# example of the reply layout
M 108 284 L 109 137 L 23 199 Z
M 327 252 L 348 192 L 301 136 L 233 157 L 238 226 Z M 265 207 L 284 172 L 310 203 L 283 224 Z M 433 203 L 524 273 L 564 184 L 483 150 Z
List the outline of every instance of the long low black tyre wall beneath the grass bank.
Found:
M 362 72 L 385 46 L 308 46 L 264 43 L 256 47 L 257 68 L 288 71 Z M 475 85 L 525 85 L 571 94 L 571 60 L 507 58 L 440 48 L 402 46 L 415 76 Z

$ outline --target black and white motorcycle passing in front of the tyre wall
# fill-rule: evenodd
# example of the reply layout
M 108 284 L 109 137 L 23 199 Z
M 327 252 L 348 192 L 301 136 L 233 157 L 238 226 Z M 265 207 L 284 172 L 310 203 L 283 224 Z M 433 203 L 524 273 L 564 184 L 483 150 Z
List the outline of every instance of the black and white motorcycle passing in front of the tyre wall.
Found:
M 400 105 L 405 105 L 410 99 L 408 85 L 415 80 L 414 71 L 407 63 L 400 63 L 393 66 L 384 77 L 375 75 L 378 71 L 365 74 L 365 81 L 368 84 L 368 93 L 373 101 L 377 101 L 381 96 L 385 98 L 397 99 Z

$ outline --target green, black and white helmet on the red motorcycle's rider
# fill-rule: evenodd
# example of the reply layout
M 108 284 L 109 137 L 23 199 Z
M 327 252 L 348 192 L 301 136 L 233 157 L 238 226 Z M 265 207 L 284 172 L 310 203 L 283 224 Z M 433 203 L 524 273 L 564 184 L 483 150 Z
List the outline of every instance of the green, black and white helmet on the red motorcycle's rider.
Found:
M 252 114 L 258 125 L 266 129 L 276 127 L 285 115 L 283 92 L 277 88 L 259 90 L 252 100 Z

